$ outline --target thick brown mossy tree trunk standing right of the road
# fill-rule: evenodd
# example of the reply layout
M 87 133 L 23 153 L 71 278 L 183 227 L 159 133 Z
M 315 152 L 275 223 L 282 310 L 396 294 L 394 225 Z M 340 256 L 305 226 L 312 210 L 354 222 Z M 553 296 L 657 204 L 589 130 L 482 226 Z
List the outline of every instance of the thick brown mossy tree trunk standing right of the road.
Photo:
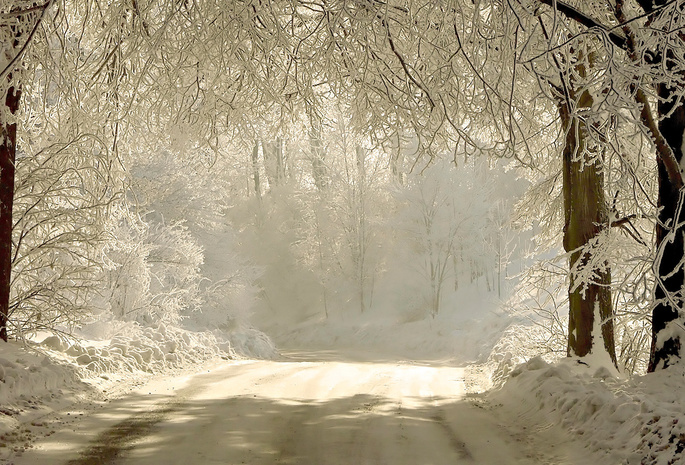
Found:
M 592 105 L 592 97 L 587 91 L 581 95 L 578 105 Z M 603 350 L 616 364 L 611 273 L 608 264 L 592 263 L 592 242 L 608 224 L 601 160 L 589 159 L 585 123 L 571 115 L 565 101 L 559 104 L 559 114 L 566 134 L 563 152 L 564 249 L 571 254 L 567 355 L 584 357 L 593 353 L 595 343 L 601 338 Z M 584 277 L 582 283 L 579 271 Z M 600 324 L 601 335 L 594 334 Z

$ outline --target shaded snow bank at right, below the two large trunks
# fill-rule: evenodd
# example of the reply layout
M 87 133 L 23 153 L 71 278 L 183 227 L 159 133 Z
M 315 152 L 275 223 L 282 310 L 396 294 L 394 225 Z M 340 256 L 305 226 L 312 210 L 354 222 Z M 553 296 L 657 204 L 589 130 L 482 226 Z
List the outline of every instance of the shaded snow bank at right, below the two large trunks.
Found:
M 685 464 L 684 377 L 685 368 L 673 368 L 627 380 L 604 366 L 535 357 L 490 398 L 521 419 L 582 436 L 601 463 Z

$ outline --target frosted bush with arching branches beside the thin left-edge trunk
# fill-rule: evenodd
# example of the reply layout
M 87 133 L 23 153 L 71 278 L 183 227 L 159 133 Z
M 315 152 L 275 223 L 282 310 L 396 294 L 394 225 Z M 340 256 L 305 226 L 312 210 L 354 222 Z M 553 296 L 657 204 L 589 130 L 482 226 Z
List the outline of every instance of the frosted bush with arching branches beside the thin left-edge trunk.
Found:
M 83 138 L 20 150 L 13 207 L 10 322 L 15 334 L 77 327 L 100 290 L 113 207 L 122 196 L 104 151 Z

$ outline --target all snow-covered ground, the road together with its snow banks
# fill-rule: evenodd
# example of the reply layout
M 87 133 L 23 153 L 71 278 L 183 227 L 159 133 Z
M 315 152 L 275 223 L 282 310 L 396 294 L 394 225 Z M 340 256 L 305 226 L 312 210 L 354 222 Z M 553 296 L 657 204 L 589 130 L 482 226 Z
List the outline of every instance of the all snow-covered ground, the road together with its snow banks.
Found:
M 277 335 L 281 347 L 313 349 L 294 358 L 251 328 L 225 335 L 127 323 L 86 327 L 80 341 L 5 344 L 0 458 L 63 463 L 98 431 L 172 405 L 154 435 L 132 440 L 140 446 L 122 463 L 190 463 L 190 452 L 157 445 L 175 443 L 191 422 L 211 433 L 198 440 L 206 454 L 194 463 L 221 454 L 246 463 L 346 463 L 321 458 L 338 450 L 392 460 L 378 463 L 685 464 L 685 370 L 629 379 L 570 359 L 534 357 L 518 367 L 511 364 L 521 354 L 488 359 L 512 323 L 521 324 L 496 311 L 402 324 L 310 321 Z M 197 373 L 205 374 L 190 376 Z M 182 402 L 173 400 L 177 391 Z M 211 418 L 208 405 L 217 409 Z M 230 419 L 221 426 L 220 417 Z M 324 427 L 339 433 L 322 435 Z M 229 430 L 239 433 L 221 442 L 217 435 Z M 190 450 L 193 440 L 179 443 Z M 397 459 L 416 460 L 412 454 L 426 461 Z

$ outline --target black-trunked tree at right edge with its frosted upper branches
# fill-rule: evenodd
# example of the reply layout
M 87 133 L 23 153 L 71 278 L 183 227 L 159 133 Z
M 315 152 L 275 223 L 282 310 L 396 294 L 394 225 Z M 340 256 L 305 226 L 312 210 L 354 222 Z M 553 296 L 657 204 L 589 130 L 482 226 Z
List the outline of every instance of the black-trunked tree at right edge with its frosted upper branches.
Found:
M 655 308 L 652 314 L 653 339 L 650 370 L 666 367 L 680 358 L 682 326 L 682 289 L 685 274 L 682 269 L 682 234 L 678 208 L 682 190 L 680 159 L 682 158 L 683 93 L 682 61 L 679 50 L 682 39 L 676 31 L 682 21 L 677 2 L 597 2 L 589 11 L 584 5 L 564 2 L 531 2 L 529 7 L 555 8 L 559 21 L 577 25 L 578 33 L 557 36 L 549 42 L 553 47 L 581 40 L 597 40 L 603 49 L 595 80 L 601 83 L 599 100 L 586 111 L 587 118 L 597 118 L 602 111 L 613 116 L 616 128 L 632 124 L 644 134 L 657 154 L 659 179 L 659 218 L 657 221 L 657 254 Z M 519 14 L 523 10 L 519 10 Z M 601 14 L 598 14 L 601 12 Z M 596 38 L 596 39 L 594 39 Z M 616 130 L 616 129 L 614 129 Z M 597 138 L 599 139 L 599 138 Z M 621 156 L 624 150 L 633 153 L 640 147 L 610 145 Z

